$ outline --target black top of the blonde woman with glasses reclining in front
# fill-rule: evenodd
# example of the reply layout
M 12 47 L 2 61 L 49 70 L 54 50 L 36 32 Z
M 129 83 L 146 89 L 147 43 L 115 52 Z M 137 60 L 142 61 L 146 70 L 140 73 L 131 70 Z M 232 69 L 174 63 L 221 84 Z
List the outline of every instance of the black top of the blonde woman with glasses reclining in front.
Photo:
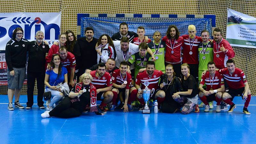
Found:
M 84 86 L 83 84 L 83 87 L 81 88 L 81 90 L 83 90 L 85 87 L 86 89 L 86 92 L 84 92 L 80 97 L 79 97 L 79 100 L 80 101 L 75 101 L 71 104 L 71 107 L 72 108 L 75 108 L 77 109 L 78 111 L 82 112 L 85 108 L 85 106 L 91 102 L 91 97 L 90 97 L 90 92 L 89 92 L 89 89 L 90 89 L 90 85 L 87 85 L 87 86 Z M 75 92 L 76 89 L 75 87 L 71 90 L 72 92 Z M 76 98 L 74 98 L 76 99 Z

